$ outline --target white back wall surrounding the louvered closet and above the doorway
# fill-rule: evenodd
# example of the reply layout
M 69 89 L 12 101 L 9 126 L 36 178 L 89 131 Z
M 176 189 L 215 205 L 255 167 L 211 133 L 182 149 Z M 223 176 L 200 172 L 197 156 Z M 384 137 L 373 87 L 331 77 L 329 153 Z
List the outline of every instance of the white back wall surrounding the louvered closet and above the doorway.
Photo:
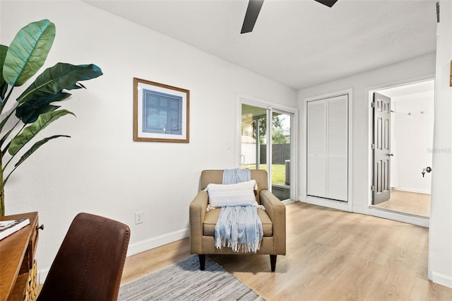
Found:
M 370 100 L 369 91 L 386 88 L 390 85 L 411 83 L 421 79 L 432 78 L 435 71 L 435 54 L 427 54 L 398 64 L 386 66 L 366 73 L 343 78 L 331 83 L 317 85 L 299 90 L 299 116 L 304 116 L 304 100 L 318 95 L 326 95 L 346 89 L 352 89 L 352 211 L 369 213 L 370 200 Z M 300 140 L 305 141 L 304 130 L 300 122 Z M 299 151 L 299 199 L 306 199 L 306 160 L 304 150 Z M 333 206 L 333 201 L 325 201 L 325 206 Z M 337 207 L 337 206 L 336 206 Z M 347 205 L 343 206 L 347 210 Z

